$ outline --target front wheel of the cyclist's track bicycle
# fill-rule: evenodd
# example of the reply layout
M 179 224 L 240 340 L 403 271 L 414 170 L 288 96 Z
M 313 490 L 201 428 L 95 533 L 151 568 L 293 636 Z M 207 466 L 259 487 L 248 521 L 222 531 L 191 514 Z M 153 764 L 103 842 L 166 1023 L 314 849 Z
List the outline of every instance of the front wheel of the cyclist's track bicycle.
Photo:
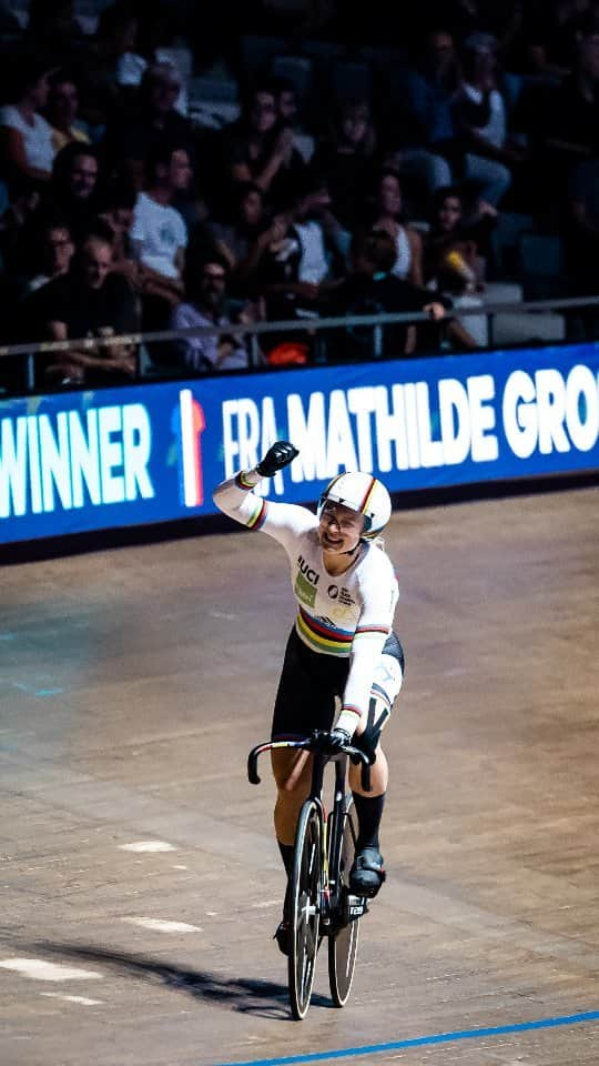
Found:
M 309 1007 L 321 921 L 322 822 L 314 801 L 304 803 L 295 834 L 290 881 L 291 951 L 290 1003 L 294 1018 L 305 1018 Z

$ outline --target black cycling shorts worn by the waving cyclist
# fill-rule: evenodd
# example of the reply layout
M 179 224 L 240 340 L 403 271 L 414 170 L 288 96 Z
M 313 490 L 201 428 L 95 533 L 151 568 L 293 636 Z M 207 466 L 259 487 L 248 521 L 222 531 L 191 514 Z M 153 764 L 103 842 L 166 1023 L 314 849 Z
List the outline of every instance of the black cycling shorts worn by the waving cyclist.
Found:
M 397 658 L 404 673 L 404 650 L 395 633 L 383 648 Z M 292 630 L 285 650 L 276 693 L 272 740 L 296 740 L 314 730 L 331 730 L 335 718 L 335 697 L 343 697 L 349 658 L 336 658 L 311 651 Z

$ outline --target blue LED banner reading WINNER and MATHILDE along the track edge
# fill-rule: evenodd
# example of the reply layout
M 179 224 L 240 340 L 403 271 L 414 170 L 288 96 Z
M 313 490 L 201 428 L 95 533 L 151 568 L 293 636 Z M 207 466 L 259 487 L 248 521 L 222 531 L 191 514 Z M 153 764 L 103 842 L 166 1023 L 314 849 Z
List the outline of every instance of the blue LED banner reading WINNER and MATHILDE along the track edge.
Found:
M 278 439 L 261 489 L 315 501 L 342 470 L 393 493 L 599 467 L 599 345 L 396 360 L 0 402 L 0 543 L 215 512 Z

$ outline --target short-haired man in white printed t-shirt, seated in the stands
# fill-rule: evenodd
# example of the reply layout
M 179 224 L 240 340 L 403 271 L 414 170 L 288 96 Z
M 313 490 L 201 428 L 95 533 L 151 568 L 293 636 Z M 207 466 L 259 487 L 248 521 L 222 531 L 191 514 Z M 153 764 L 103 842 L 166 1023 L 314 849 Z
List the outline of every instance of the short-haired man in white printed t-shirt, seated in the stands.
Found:
M 140 192 L 133 214 L 131 248 L 141 264 L 143 292 L 174 303 L 183 294 L 183 264 L 187 230 L 171 205 L 192 177 L 185 149 L 164 149 L 148 163 L 150 187 Z

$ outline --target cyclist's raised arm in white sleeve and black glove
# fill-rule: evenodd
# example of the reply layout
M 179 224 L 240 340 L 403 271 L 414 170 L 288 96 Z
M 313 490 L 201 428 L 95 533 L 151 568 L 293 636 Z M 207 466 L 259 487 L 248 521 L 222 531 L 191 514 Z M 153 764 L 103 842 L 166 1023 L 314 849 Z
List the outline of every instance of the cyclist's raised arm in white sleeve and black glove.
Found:
M 297 455 L 297 450 L 280 441 L 268 450 L 253 470 L 242 470 L 221 482 L 214 490 L 215 505 L 230 519 L 250 530 L 262 530 L 285 544 L 288 534 L 298 534 L 315 524 L 315 516 L 306 507 L 291 503 L 264 500 L 254 489 L 264 477 L 273 477 Z

